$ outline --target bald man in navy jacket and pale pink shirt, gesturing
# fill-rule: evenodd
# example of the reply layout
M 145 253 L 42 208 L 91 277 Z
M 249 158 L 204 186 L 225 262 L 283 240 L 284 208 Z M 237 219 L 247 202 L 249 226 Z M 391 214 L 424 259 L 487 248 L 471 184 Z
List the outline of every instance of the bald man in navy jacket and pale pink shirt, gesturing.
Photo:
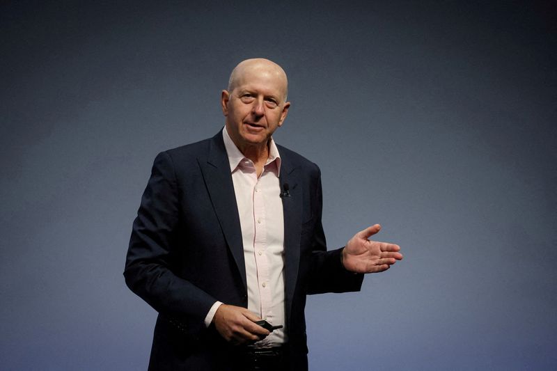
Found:
M 377 224 L 327 251 L 319 168 L 272 139 L 287 90 L 276 63 L 243 61 L 224 129 L 155 159 L 124 272 L 159 312 L 151 370 L 306 370 L 306 294 L 358 291 L 402 259 L 368 240 Z

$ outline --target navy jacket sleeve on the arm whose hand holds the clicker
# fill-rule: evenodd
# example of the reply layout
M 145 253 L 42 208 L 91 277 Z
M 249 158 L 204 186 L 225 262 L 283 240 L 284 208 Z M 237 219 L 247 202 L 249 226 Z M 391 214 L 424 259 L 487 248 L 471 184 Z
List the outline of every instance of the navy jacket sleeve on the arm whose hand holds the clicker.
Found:
M 180 228 L 179 189 L 170 155 L 161 152 L 141 198 L 125 262 L 130 290 L 182 329 L 197 333 L 216 299 L 175 274 Z M 181 246 L 187 248 L 187 246 Z

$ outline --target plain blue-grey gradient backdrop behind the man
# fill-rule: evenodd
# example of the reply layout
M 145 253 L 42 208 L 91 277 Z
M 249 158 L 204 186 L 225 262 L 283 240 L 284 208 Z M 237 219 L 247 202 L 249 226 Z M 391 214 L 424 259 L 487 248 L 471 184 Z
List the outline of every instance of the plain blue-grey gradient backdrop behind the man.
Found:
M 146 369 L 122 271 L 152 160 L 264 56 L 329 246 L 382 223 L 405 253 L 308 299 L 311 369 L 556 369 L 555 4 L 2 1 L 0 368 Z

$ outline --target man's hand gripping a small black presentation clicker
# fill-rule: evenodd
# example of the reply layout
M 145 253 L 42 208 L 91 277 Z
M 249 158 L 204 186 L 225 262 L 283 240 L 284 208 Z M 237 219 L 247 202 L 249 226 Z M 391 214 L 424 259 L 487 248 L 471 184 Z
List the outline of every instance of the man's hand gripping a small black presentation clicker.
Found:
M 261 319 L 247 308 L 222 304 L 214 313 L 213 323 L 226 341 L 235 345 L 253 343 L 264 339 L 269 331 L 254 322 Z

